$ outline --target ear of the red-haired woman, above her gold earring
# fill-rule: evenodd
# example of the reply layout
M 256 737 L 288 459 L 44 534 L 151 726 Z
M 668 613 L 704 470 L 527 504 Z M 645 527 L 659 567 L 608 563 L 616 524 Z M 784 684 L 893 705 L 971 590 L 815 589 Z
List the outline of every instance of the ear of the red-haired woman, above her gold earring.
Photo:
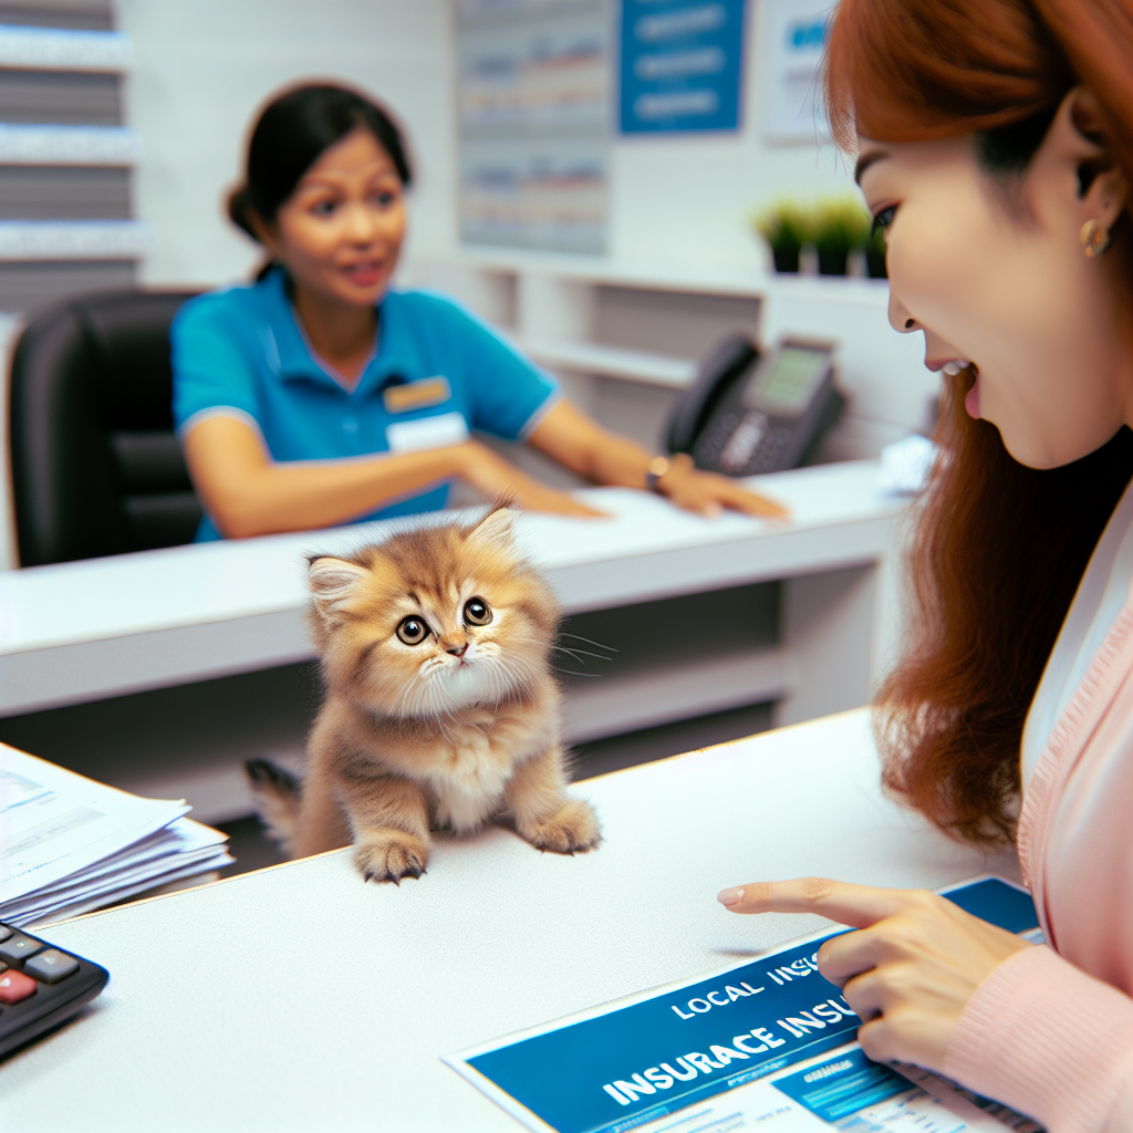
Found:
M 1114 155 L 1101 105 L 1085 87 L 1076 86 L 1063 99 L 1034 168 L 1056 172 L 1062 184 L 1073 186 L 1079 225 L 1092 220 L 1108 231 L 1128 207 L 1128 180 Z

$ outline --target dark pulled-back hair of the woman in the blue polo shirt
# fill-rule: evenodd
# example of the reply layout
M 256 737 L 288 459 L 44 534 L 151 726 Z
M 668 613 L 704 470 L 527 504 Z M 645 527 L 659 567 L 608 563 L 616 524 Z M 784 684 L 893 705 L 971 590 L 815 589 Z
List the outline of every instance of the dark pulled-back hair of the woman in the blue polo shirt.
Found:
M 376 102 L 347 87 L 320 84 L 293 87 L 259 116 L 245 182 L 228 198 L 228 214 L 254 240 L 252 213 L 271 223 L 304 173 L 323 151 L 364 126 L 390 155 L 401 184 L 412 182 L 406 144 L 391 116 Z

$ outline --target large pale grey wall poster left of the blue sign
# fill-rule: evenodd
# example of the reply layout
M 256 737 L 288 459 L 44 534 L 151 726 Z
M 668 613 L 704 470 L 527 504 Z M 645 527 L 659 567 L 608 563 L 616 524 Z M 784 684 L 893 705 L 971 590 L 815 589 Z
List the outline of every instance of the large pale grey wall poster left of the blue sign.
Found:
M 458 0 L 460 237 L 606 250 L 611 0 Z

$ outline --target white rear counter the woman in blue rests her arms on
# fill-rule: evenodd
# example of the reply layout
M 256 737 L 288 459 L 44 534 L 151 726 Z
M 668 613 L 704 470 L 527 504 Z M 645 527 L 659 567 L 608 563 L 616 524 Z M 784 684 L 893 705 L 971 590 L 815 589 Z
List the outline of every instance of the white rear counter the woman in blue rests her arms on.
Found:
M 792 508 L 789 523 L 709 521 L 646 493 L 594 488 L 580 495 L 611 520 L 527 514 L 519 531 L 566 613 L 837 571 L 876 563 L 902 506 L 879 489 L 877 468 L 851 461 L 753 480 Z M 306 659 L 304 554 L 392 526 L 0 572 L 0 715 Z M 775 665 L 777 676 L 752 671 L 748 683 L 775 691 L 787 667 L 783 657 Z

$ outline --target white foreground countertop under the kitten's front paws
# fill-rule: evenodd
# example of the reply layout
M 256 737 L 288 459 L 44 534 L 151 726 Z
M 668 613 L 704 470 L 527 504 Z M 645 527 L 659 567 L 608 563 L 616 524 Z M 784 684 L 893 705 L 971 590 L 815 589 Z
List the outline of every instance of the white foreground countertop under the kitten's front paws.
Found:
M 104 964 L 86 1014 L 0 1065 L 6 1133 L 518 1130 L 440 1062 L 474 1042 L 813 931 L 725 885 L 826 874 L 936 887 L 1015 874 L 886 800 L 864 710 L 591 780 L 605 843 L 492 828 L 416 883 L 347 852 L 42 935 Z

